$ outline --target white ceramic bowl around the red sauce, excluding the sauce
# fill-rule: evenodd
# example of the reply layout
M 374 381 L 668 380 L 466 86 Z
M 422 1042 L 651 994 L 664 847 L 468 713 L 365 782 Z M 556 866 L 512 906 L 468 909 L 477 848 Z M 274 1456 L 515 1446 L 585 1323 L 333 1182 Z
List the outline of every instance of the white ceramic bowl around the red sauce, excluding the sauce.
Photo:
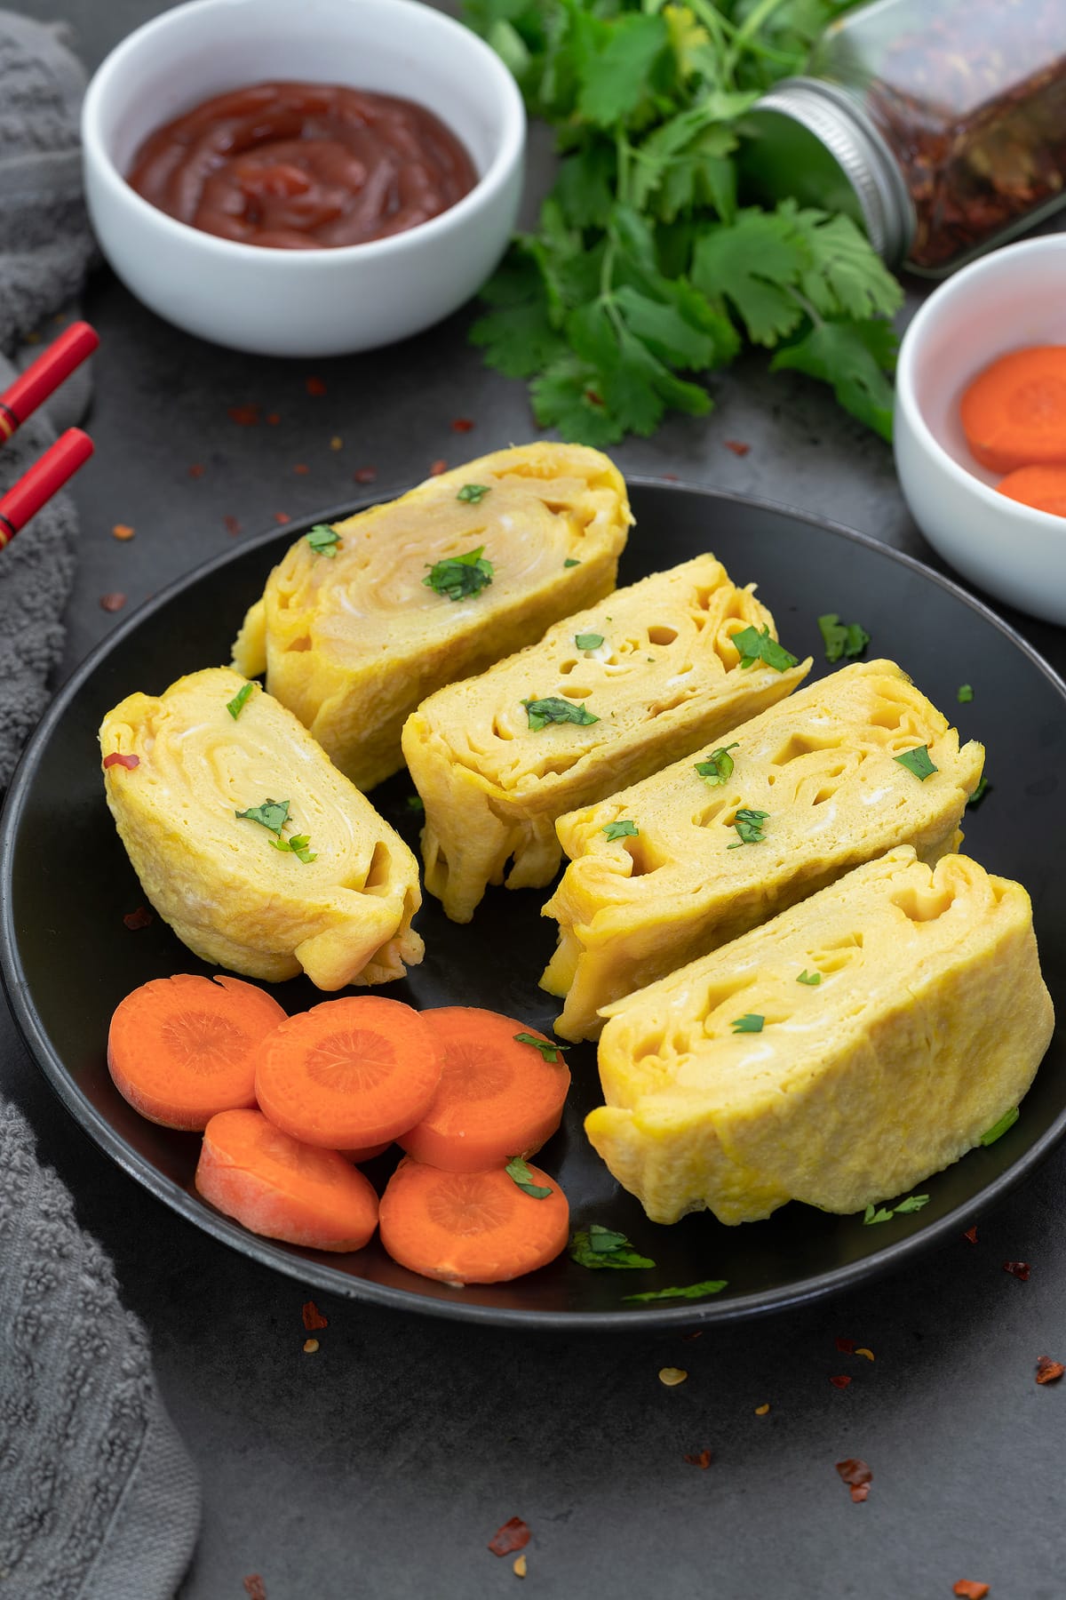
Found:
M 171 117 L 268 78 L 419 101 L 467 146 L 478 184 L 449 211 L 337 250 L 265 250 L 203 234 L 123 173 Z M 101 248 L 133 293 L 189 333 L 261 355 L 342 355 L 403 339 L 462 306 L 515 226 L 526 115 L 483 40 L 417 0 L 193 0 L 102 62 L 82 114 Z

